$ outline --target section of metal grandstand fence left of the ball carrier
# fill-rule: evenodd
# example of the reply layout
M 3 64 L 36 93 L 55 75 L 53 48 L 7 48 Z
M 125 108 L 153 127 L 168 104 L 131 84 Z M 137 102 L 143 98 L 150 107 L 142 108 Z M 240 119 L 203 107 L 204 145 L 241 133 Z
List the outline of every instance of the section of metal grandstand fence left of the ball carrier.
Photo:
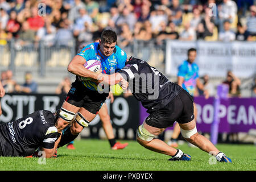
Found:
M 67 67 L 75 56 L 75 46 L 75 40 L 49 45 L 44 40 L 23 44 L 11 39 L 0 46 L 0 66 L 14 73 L 20 67 L 38 69 L 39 75 L 44 77 L 47 67 Z

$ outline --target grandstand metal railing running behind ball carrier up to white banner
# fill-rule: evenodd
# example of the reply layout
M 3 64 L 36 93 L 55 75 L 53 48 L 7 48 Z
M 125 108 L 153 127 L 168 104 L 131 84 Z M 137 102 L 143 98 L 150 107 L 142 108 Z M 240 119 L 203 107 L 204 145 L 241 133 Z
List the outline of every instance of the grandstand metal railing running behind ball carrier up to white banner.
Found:
M 79 45 L 75 39 L 63 40 L 61 44 L 51 44 L 46 40 L 21 44 L 19 39 L 11 39 L 5 44 L 0 44 L 0 66 L 11 69 L 14 73 L 16 69 L 37 69 L 39 76 L 45 77 L 47 68 L 67 67 L 69 61 L 76 55 L 77 47 Z M 149 61 L 152 66 L 163 67 L 165 43 L 158 45 L 155 39 L 134 40 L 129 46 L 121 48 L 127 53 L 127 57 L 138 57 Z

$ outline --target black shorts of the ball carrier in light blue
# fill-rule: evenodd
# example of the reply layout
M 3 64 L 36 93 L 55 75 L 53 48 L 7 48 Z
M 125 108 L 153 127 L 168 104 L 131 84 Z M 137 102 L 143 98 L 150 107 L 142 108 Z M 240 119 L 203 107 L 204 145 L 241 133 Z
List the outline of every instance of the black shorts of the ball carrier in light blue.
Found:
M 72 83 L 65 101 L 77 107 L 84 107 L 90 113 L 97 114 L 108 96 L 108 93 L 100 94 L 97 91 L 90 90 L 82 82 L 76 80 Z

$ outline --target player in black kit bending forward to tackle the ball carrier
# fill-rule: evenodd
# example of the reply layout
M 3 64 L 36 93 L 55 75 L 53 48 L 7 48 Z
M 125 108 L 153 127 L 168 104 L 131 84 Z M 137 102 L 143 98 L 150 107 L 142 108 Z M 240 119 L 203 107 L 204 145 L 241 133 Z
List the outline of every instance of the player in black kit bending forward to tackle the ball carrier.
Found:
M 123 89 L 127 89 L 129 85 L 133 96 L 141 101 L 147 109 L 147 113 L 150 113 L 137 130 L 137 141 L 143 147 L 172 156 L 169 160 L 191 160 L 190 155 L 155 138 L 177 121 L 180 125 L 181 135 L 188 142 L 205 152 L 210 152 L 216 156 L 218 162 L 232 162 L 207 138 L 197 133 L 193 98 L 189 93 L 179 85 L 170 82 L 146 61 L 131 57 L 121 71 L 114 75 L 99 75 L 98 80 L 109 85 L 120 82 Z

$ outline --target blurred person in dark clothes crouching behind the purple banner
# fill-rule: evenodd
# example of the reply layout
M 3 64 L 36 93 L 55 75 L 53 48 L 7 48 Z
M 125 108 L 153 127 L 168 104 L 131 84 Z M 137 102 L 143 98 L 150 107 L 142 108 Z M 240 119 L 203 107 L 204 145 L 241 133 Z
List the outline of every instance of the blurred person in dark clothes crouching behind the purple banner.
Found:
M 229 86 L 229 97 L 241 97 L 241 81 L 231 71 L 227 72 L 226 80 L 223 82 Z

